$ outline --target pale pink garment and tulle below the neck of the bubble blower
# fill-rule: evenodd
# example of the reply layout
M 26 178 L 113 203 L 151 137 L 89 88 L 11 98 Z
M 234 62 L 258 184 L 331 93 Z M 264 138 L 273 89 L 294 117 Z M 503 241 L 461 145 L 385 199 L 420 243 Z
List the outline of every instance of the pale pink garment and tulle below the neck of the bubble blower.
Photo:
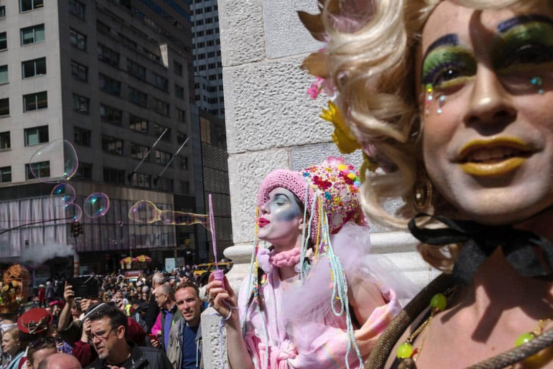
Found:
M 391 262 L 382 261 L 379 255 L 367 254 L 367 228 L 349 222 L 331 236 L 331 241 L 342 261 L 348 287 L 362 288 L 367 282 L 376 284 L 377 293 L 386 302 L 373 310 L 367 321 L 355 331 L 359 349 L 366 358 L 380 333 L 401 310 L 398 297 L 412 297 L 416 287 L 399 276 L 399 269 Z M 258 253 L 260 266 L 263 258 L 268 261 L 268 254 L 266 251 Z M 331 279 L 326 254 L 312 263 L 305 281 L 300 281 L 297 276 L 281 281 L 278 268 L 272 268 L 267 273 L 267 281 L 263 288 L 265 309 L 260 313 L 253 303 L 248 308 L 246 323 L 246 345 L 258 367 L 263 368 L 265 355 L 268 355 L 269 368 L 345 368 L 346 319 L 345 314 L 336 316 L 330 306 Z M 249 278 L 246 278 L 238 294 L 241 314 L 249 299 L 246 295 L 248 283 Z M 261 314 L 267 323 L 268 344 L 265 343 Z M 241 319 L 244 317 L 241 316 Z M 352 369 L 359 367 L 353 349 L 347 360 Z

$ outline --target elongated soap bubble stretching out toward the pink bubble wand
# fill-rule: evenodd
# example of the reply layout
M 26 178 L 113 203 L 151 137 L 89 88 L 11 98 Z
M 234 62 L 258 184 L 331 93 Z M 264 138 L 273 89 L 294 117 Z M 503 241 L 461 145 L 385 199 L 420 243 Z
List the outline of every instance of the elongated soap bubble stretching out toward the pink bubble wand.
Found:
M 129 219 L 152 224 L 161 221 L 166 225 L 187 226 L 201 224 L 209 229 L 209 216 L 206 214 L 193 214 L 191 212 L 160 210 L 152 201 L 140 200 L 131 206 L 128 213 Z

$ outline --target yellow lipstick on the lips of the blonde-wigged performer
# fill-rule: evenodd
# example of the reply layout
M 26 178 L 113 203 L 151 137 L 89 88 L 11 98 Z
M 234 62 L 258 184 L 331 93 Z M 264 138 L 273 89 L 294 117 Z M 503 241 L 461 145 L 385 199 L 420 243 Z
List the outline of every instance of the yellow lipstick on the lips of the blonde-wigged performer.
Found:
M 514 156 L 500 161 L 490 162 L 467 162 L 466 157 L 471 152 L 478 149 L 493 149 L 497 147 L 508 147 L 518 150 L 521 153 L 529 154 L 533 150 L 530 145 L 519 138 L 514 137 L 498 137 L 489 140 L 474 140 L 469 142 L 461 149 L 458 157 L 461 158 L 459 167 L 465 173 L 476 176 L 499 176 L 507 174 L 520 167 L 526 162 L 526 155 Z

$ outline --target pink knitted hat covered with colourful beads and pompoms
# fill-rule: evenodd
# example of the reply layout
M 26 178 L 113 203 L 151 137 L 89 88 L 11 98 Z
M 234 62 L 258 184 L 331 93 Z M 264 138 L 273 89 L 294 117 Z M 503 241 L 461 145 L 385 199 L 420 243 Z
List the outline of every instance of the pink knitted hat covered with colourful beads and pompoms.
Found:
M 283 187 L 298 196 L 309 213 L 315 196 L 319 196 L 322 209 L 328 217 L 329 231 L 333 234 L 340 231 L 348 221 L 356 221 L 361 215 L 360 186 L 361 181 L 353 165 L 345 164 L 343 158 L 328 157 L 324 162 L 300 171 L 277 169 L 269 173 L 259 187 L 257 205 L 259 208 L 262 207 L 268 201 L 272 190 Z M 319 215 L 315 207 L 310 235 L 314 245 L 318 225 Z

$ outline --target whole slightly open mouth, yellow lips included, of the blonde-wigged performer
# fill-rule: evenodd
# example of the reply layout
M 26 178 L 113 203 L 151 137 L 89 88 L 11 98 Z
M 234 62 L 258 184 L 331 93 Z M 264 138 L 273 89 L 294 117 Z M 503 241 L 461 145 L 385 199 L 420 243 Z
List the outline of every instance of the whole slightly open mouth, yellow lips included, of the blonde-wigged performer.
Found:
M 524 164 L 534 151 L 518 138 L 495 138 L 469 142 L 458 155 L 458 164 L 467 174 L 498 176 Z

